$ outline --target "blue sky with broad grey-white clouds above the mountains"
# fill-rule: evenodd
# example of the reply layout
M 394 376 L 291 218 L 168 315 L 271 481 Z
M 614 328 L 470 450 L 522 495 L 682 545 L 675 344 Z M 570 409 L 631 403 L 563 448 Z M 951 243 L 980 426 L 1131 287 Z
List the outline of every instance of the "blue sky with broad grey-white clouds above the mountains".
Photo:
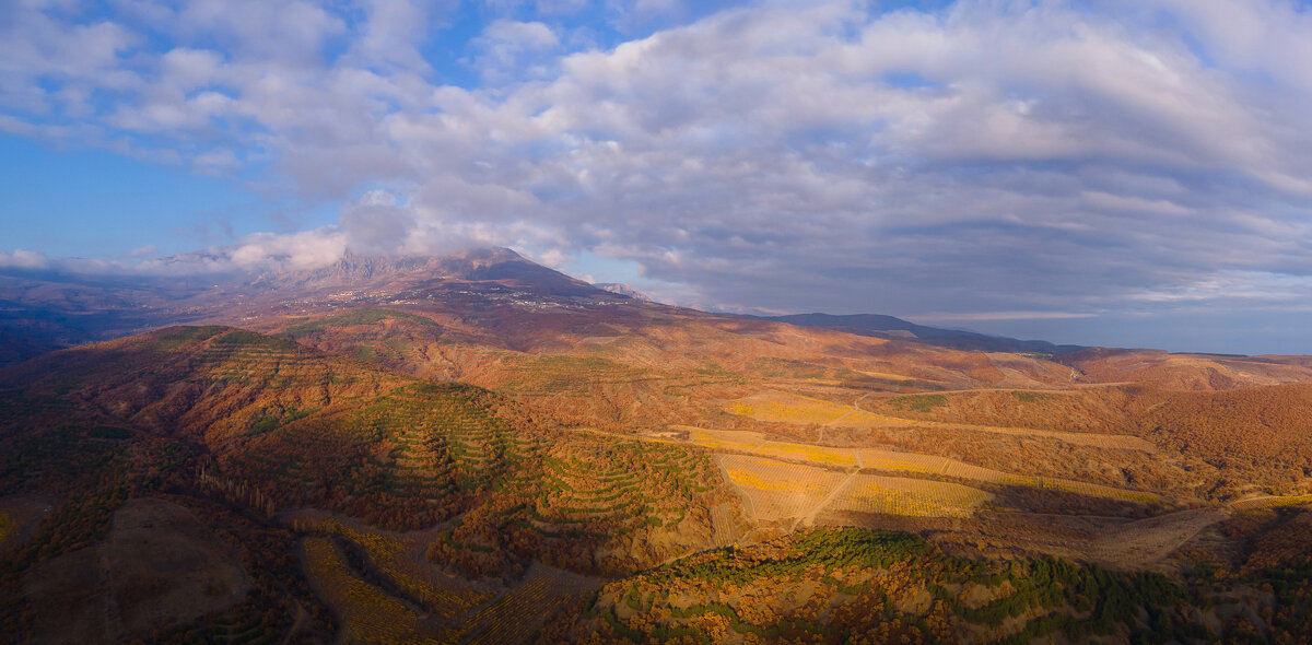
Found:
M 0 170 L 0 267 L 504 245 L 715 311 L 1312 354 L 1290 0 L 9 0 Z

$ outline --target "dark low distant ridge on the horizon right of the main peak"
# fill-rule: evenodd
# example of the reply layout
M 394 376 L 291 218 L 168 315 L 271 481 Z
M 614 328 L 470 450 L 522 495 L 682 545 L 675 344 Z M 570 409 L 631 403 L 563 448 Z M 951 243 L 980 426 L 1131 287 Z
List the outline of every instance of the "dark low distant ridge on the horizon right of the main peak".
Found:
M 916 340 L 939 347 L 953 347 L 968 351 L 1013 351 L 1061 355 L 1085 347 L 1078 345 L 1054 345 L 1047 341 L 1018 341 L 1001 336 L 988 336 L 960 329 L 942 329 L 909 322 L 878 313 L 854 313 L 836 316 L 830 313 L 792 313 L 787 316 L 766 316 L 762 320 L 775 320 L 790 325 L 827 326 L 854 333 L 878 336 L 880 338 Z

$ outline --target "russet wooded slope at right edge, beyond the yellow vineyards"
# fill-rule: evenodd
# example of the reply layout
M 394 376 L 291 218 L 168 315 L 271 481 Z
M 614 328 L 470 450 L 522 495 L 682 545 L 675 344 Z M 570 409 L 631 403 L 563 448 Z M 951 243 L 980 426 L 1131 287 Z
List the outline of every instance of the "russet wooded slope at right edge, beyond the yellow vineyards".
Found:
M 968 391 L 866 397 L 861 409 L 926 427 L 984 427 L 996 433 L 1086 437 L 1109 447 L 1151 446 L 1214 481 L 1208 494 L 1256 488 L 1312 490 L 1312 385 L 1178 391 L 1145 384 L 1071 391 Z M 1113 433 L 1107 435 L 1105 433 Z

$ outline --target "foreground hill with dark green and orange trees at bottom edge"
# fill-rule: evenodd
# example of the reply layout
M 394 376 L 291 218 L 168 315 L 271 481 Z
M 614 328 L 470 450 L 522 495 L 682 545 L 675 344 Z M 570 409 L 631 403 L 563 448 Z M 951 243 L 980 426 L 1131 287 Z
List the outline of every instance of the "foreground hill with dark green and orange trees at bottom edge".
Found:
M 1061 560 L 960 560 L 905 534 L 812 530 L 611 582 L 569 640 L 1019 644 L 1206 636 L 1191 616 L 1170 611 L 1179 595 L 1160 574 Z

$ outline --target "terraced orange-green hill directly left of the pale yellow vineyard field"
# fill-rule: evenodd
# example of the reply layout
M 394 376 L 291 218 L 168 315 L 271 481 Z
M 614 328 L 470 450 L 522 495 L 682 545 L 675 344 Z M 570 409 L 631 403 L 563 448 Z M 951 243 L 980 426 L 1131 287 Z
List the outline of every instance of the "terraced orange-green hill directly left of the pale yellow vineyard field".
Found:
M 699 548 L 706 509 L 727 501 L 710 458 L 685 446 L 576 435 L 544 442 L 530 467 L 437 536 L 428 555 L 466 574 L 521 573 L 529 560 L 631 572 Z

